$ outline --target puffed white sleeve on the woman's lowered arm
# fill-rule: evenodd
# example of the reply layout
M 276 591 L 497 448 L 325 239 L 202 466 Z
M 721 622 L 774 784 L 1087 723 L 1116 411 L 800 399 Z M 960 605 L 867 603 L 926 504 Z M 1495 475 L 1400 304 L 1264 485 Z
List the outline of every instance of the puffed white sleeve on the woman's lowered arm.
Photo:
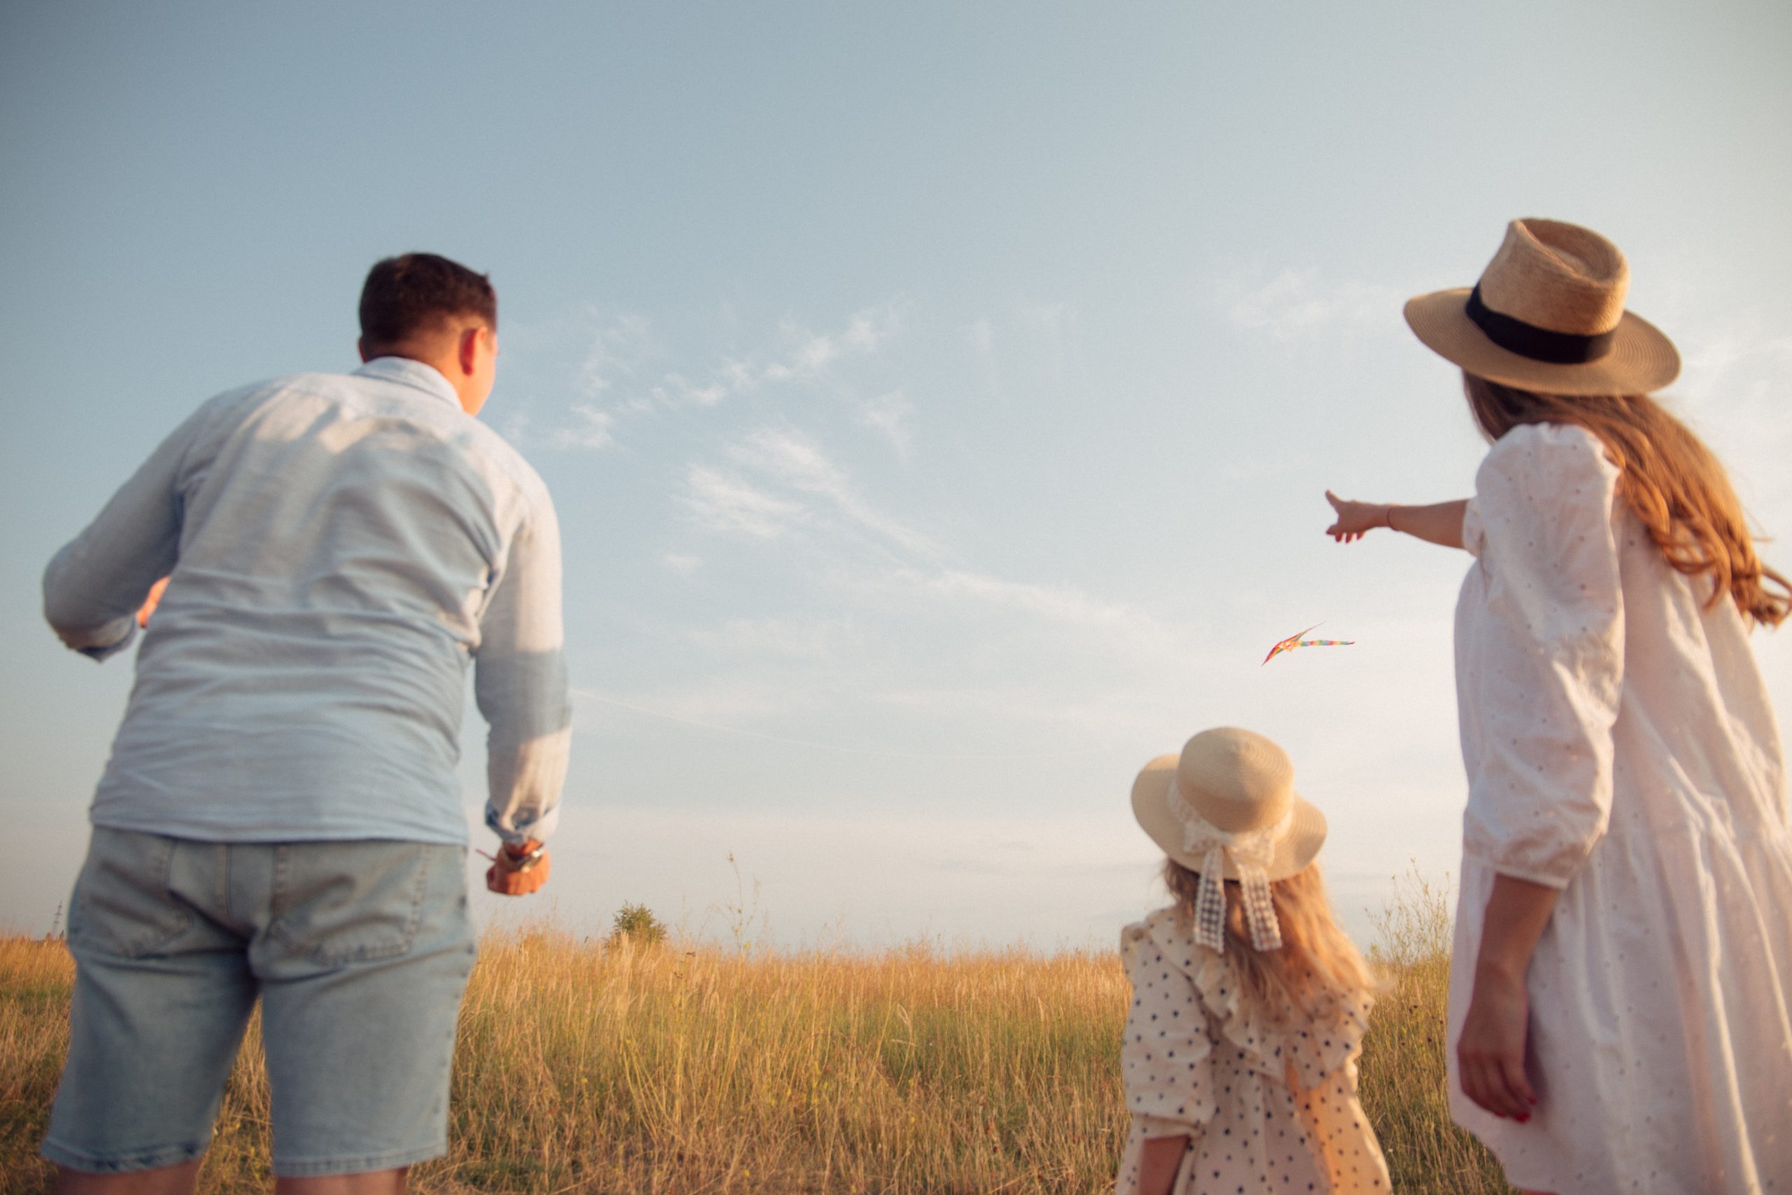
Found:
M 1624 677 L 1618 469 L 1584 428 L 1525 425 L 1487 453 L 1464 546 L 1480 600 L 1457 625 L 1464 849 L 1566 887 L 1606 831 Z

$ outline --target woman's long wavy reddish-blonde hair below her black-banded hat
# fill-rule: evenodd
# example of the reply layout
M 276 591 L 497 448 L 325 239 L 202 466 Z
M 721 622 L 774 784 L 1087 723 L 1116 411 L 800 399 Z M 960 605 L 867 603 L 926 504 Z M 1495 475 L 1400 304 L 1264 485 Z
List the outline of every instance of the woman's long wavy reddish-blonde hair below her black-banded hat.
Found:
M 1684 423 L 1647 394 L 1568 398 L 1462 374 L 1468 407 L 1487 439 L 1521 423 L 1586 428 L 1618 466 L 1618 493 L 1661 557 L 1688 577 L 1711 577 L 1717 606 L 1727 593 L 1744 618 L 1778 627 L 1792 611 L 1792 584 L 1762 564 L 1754 536 L 1722 462 Z M 1767 584 L 1778 586 L 1770 593 Z

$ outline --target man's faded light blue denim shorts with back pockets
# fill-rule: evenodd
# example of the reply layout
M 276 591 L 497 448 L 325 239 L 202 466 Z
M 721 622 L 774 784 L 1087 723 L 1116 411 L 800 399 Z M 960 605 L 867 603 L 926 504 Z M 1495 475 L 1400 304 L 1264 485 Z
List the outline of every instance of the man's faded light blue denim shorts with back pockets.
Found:
M 473 944 L 459 846 L 95 826 L 43 1156 L 97 1174 L 199 1157 L 260 996 L 274 1174 L 439 1157 Z

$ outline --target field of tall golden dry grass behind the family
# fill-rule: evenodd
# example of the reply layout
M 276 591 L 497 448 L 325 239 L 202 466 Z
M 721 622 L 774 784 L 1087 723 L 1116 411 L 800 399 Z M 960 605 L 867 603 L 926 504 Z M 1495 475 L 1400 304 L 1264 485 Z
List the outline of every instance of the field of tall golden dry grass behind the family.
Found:
M 1389 991 L 1362 1100 L 1396 1190 L 1507 1191 L 1443 1100 L 1441 894 L 1382 923 Z M 68 1039 L 59 941 L 0 939 L 0 1175 L 36 1156 Z M 1125 1131 L 1116 957 L 1025 951 L 749 953 L 484 942 L 461 1016 L 452 1154 L 419 1191 L 1102 1191 Z M 201 1179 L 267 1190 L 267 1077 L 253 1037 Z

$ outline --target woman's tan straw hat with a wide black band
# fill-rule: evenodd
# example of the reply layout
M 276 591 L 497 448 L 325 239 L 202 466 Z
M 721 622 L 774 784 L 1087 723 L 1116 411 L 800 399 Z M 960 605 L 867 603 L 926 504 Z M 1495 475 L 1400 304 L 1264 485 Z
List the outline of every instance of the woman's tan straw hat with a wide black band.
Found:
M 1579 224 L 1523 219 L 1469 288 L 1407 301 L 1432 351 L 1489 382 L 1543 394 L 1649 394 L 1679 376 L 1679 353 L 1624 310 L 1631 267 Z

